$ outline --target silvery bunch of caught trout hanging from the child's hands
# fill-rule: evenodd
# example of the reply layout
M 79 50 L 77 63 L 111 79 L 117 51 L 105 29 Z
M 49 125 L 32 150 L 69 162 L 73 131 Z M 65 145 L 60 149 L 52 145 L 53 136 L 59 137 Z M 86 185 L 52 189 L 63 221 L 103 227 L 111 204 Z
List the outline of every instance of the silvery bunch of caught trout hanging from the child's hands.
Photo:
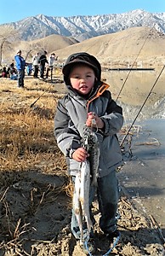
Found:
M 90 218 L 89 191 L 90 185 L 97 185 L 100 148 L 98 138 L 88 126 L 84 126 L 83 148 L 88 151 L 88 160 L 85 160 L 77 172 L 75 179 L 75 190 L 73 195 L 73 210 L 77 217 L 80 229 L 80 242 L 83 243 L 83 221 L 87 223 L 88 238 L 93 228 Z

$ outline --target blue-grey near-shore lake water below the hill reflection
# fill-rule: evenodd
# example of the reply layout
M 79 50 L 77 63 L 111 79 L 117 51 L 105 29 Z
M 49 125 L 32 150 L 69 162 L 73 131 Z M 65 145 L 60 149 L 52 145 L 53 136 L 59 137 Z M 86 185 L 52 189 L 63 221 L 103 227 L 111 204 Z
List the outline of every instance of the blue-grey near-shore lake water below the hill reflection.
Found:
M 139 130 L 130 149 L 128 137 L 124 142 L 125 165 L 118 172 L 119 182 L 142 211 L 156 219 L 165 236 L 165 119 L 141 120 L 135 127 Z

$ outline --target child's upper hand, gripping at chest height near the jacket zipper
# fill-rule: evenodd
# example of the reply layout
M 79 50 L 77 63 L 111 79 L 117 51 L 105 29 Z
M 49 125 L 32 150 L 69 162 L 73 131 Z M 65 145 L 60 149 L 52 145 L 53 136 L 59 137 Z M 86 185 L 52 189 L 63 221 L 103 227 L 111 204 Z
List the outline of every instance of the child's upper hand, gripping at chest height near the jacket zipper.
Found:
M 104 127 L 104 122 L 100 117 L 94 113 L 94 112 L 89 112 L 88 113 L 88 118 L 86 121 L 86 125 L 88 127 L 97 127 L 98 129 L 102 129 Z

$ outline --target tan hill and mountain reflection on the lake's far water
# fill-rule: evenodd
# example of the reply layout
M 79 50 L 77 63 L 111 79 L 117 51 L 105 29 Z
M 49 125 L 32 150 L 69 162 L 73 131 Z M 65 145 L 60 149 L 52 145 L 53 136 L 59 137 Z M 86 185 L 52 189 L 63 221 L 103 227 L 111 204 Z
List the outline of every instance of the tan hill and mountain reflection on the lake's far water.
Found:
M 161 71 L 162 67 L 154 71 L 103 72 L 102 77 L 110 84 L 112 97 L 114 100 L 118 98 L 117 102 L 122 105 L 126 119 L 135 118 L 155 83 L 138 119 L 165 118 L 165 70 L 156 82 Z

